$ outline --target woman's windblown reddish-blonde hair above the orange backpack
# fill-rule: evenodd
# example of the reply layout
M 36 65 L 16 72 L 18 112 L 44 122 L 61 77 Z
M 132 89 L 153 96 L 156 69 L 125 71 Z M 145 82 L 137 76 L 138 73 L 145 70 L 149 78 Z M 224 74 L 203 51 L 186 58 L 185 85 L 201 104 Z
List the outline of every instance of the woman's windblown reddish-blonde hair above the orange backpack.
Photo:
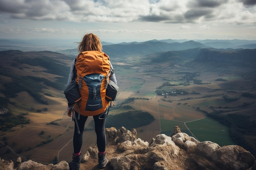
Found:
M 88 33 L 83 36 L 82 42 L 79 42 L 77 48 L 79 52 L 83 51 L 102 51 L 101 40 L 93 33 Z

